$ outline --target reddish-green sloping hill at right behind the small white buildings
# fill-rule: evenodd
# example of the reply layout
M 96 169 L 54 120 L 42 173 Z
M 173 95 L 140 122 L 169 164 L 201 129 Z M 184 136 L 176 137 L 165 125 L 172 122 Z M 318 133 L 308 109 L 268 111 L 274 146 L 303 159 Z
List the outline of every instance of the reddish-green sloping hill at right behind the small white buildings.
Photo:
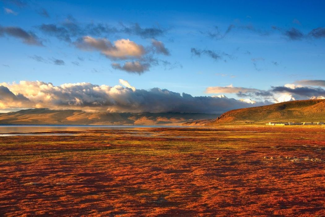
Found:
M 265 124 L 270 121 L 325 121 L 325 100 L 297 100 L 235 109 L 222 114 L 216 121 L 206 123 L 206 125 L 244 124 L 251 122 Z

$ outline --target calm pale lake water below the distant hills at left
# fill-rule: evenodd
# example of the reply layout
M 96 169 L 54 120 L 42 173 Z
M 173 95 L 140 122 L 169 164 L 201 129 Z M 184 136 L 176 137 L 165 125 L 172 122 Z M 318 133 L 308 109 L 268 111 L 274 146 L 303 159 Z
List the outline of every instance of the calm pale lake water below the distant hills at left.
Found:
M 78 129 L 130 129 L 130 128 L 155 128 L 155 127 L 184 127 L 184 126 L 111 126 L 111 125 L 0 125 L 0 134 L 6 133 L 37 133 L 57 130 Z M 53 135 L 53 134 L 52 134 Z M 4 136 L 4 135 L 2 135 Z

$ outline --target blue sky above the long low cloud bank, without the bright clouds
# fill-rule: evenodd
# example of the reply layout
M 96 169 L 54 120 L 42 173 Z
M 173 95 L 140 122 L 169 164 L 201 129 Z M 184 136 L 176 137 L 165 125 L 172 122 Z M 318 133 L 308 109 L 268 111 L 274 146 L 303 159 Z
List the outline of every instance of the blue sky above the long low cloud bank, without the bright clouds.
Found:
M 245 88 L 268 91 L 324 79 L 324 1 L 12 0 L 0 1 L 0 7 L 0 83 L 38 80 L 54 86 L 77 82 L 114 86 L 123 79 L 136 89 L 272 101 Z M 44 28 L 49 25 L 57 32 Z M 107 29 L 89 30 L 98 25 Z M 33 41 L 26 42 L 10 28 L 25 31 Z M 69 39 L 63 37 L 67 34 Z M 106 45 L 94 47 L 85 37 Z M 114 41 L 121 39 L 142 46 L 142 53 L 103 54 L 112 52 L 107 45 L 114 48 Z M 127 71 L 126 62 L 133 63 Z M 135 62 L 141 69 L 135 70 Z M 240 95 L 240 89 L 207 91 L 227 86 L 250 94 Z M 307 97 L 288 89 L 277 93 Z

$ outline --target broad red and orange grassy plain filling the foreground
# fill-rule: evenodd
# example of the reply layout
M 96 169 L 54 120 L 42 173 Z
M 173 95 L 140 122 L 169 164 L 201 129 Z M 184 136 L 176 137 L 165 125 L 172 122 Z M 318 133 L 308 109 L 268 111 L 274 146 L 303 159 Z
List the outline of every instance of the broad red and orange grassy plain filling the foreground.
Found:
M 0 137 L 1 216 L 325 215 L 324 128 L 75 133 Z

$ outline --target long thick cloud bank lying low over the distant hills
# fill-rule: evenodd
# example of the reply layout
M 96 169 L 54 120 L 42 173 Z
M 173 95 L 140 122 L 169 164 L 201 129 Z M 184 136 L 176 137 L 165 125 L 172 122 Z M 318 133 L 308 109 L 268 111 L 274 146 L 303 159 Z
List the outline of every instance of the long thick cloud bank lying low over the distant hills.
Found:
M 91 83 L 54 86 L 42 81 L 0 83 L 0 109 L 30 107 L 74 109 L 108 112 L 194 112 L 220 114 L 231 109 L 251 107 L 252 104 L 235 99 L 176 93 L 167 89 L 135 89 L 128 82 L 123 85 L 94 85 Z M 16 97 L 15 97 L 16 96 Z M 7 99 L 10 99 L 7 100 Z M 256 103 L 254 105 L 263 105 Z

